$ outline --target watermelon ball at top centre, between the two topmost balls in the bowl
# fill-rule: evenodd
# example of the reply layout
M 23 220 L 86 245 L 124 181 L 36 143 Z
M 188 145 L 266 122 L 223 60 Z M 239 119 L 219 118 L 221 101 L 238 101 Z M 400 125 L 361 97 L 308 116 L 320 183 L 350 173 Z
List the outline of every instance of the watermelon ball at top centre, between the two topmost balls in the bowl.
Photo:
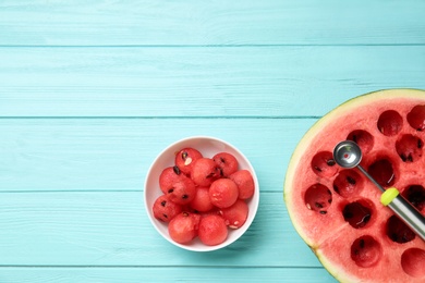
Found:
M 192 167 L 191 179 L 198 186 L 210 186 L 218 177 L 220 177 L 220 171 L 210 158 L 199 158 Z

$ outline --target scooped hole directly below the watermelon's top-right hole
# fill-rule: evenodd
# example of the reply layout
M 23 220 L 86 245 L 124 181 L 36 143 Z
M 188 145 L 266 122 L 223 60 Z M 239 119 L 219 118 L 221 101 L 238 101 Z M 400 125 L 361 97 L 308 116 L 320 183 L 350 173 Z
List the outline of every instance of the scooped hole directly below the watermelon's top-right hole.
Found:
M 396 150 L 403 162 L 414 162 L 422 157 L 424 143 L 413 135 L 403 135 L 396 143 Z

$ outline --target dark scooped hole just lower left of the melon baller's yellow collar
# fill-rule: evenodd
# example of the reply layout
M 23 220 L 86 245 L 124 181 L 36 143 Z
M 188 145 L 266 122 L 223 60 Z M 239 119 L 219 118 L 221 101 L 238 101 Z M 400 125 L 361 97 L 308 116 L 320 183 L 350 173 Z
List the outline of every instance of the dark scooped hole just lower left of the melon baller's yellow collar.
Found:
M 345 205 L 342 216 L 352 227 L 361 229 L 369 223 L 374 211 L 375 207 L 369 200 L 359 199 Z

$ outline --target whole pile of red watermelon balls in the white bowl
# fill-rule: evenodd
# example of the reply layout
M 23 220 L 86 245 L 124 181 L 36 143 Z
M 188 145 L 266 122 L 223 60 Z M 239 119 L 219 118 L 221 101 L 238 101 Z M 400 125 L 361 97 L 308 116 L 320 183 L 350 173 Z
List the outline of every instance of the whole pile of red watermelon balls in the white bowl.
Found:
M 204 157 L 186 147 L 175 153 L 174 165 L 159 176 L 163 193 L 153 206 L 157 220 L 168 223 L 170 237 L 190 244 L 198 237 L 215 246 L 223 243 L 229 229 L 241 227 L 248 216 L 246 200 L 254 195 L 248 170 L 240 170 L 229 152 Z

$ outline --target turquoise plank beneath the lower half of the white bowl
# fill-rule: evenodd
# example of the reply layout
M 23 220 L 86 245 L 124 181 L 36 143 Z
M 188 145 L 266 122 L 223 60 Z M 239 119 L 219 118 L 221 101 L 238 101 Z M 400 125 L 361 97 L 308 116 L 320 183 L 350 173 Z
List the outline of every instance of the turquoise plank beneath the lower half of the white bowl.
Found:
M 1 193 L 0 223 L 0 266 L 321 267 L 293 229 L 281 192 L 260 193 L 248 231 L 210 253 L 162 238 L 142 192 Z

